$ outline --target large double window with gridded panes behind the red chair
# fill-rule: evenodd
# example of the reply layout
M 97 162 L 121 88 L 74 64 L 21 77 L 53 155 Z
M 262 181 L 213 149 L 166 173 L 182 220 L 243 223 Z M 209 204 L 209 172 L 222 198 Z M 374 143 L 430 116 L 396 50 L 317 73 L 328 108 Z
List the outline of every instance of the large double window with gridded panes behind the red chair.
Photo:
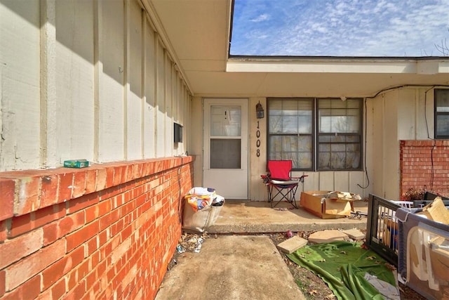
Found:
M 268 98 L 268 159 L 303 171 L 360 170 L 362 100 Z

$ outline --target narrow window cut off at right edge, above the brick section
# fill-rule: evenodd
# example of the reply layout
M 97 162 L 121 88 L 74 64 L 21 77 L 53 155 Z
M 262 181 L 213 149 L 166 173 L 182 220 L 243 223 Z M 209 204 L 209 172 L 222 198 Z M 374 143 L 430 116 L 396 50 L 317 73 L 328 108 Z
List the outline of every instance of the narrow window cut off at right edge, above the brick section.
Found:
M 435 138 L 449 138 L 449 89 L 435 89 Z

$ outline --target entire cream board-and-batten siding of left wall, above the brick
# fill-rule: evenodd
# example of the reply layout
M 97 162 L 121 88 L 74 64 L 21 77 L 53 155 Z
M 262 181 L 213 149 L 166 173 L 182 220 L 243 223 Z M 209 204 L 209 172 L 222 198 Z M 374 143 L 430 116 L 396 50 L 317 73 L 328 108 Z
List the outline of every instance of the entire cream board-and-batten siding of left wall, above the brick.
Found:
M 190 93 L 140 1 L 1 1 L 0 33 L 0 171 L 187 150 Z

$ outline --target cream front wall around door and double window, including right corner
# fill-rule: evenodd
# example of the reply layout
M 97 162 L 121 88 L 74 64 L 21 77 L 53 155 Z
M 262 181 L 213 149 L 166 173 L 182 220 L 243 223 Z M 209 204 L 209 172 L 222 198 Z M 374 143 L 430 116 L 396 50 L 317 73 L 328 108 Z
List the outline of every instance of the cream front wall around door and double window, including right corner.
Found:
M 376 98 L 366 99 L 363 105 L 363 171 L 317 171 L 293 172 L 294 176 L 308 175 L 300 190 L 340 190 L 358 193 L 368 197 L 370 193 L 386 197 L 399 198 L 399 141 L 427 139 L 427 126 L 432 137 L 434 131 L 434 91 L 429 88 L 397 89 L 382 93 Z M 260 102 L 267 113 L 266 98 L 249 98 L 249 189 L 250 199 L 267 200 L 267 191 L 262 184 L 261 174 L 266 172 L 267 162 L 267 120 L 256 119 L 255 105 Z M 424 107 L 426 109 L 424 110 Z M 201 97 L 194 97 L 192 110 L 192 129 L 196 133 L 203 130 L 203 105 Z M 366 110 L 366 112 L 365 112 Z M 427 113 L 427 126 L 424 118 Z M 260 156 L 257 157 L 257 121 L 260 130 Z M 365 129 L 365 124 L 367 124 Z M 195 184 L 201 185 L 203 161 L 202 135 L 192 136 L 192 154 L 197 155 L 195 162 Z M 366 156 L 366 158 L 365 158 Z M 298 193 L 300 191 L 298 190 Z M 299 197 L 299 196 L 298 196 Z

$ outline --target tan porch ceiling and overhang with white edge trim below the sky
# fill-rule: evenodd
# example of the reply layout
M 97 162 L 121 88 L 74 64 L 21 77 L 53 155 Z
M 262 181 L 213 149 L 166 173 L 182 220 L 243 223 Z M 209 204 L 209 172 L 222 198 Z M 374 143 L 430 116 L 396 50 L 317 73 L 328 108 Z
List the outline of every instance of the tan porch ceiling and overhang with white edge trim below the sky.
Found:
M 373 96 L 449 84 L 449 59 L 232 58 L 232 0 L 142 0 L 195 96 Z

